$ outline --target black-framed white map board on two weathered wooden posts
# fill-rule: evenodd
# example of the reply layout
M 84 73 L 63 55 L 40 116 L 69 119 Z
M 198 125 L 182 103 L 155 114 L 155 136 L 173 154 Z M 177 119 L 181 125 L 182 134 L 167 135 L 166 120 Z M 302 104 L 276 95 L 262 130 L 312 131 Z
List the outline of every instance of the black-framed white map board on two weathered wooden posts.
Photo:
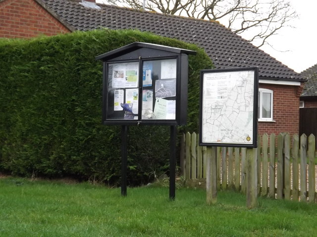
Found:
M 228 148 L 228 185 L 239 189 L 240 173 L 234 175 L 234 165 L 240 170 L 239 148 L 258 145 L 258 83 L 255 67 L 201 71 L 199 145 L 211 147 L 206 151 L 208 204 L 217 200 L 216 147 Z M 258 195 L 258 150 L 249 149 L 247 157 L 247 206 L 251 208 L 256 206 Z M 223 188 L 227 184 L 225 160 L 226 149 L 222 149 Z

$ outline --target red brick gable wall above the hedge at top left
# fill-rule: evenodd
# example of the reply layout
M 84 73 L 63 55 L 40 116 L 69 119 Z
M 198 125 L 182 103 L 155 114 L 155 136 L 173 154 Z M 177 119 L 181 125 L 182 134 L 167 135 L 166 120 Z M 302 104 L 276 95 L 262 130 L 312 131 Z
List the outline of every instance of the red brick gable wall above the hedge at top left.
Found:
M 34 0 L 0 2 L 0 37 L 32 38 L 70 32 Z

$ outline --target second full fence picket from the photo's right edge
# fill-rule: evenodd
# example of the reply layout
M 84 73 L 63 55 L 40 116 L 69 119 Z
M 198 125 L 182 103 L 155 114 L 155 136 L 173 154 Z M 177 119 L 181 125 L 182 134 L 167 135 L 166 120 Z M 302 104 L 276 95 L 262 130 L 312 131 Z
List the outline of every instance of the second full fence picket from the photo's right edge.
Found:
M 306 148 L 307 148 L 307 136 L 303 134 L 301 136 L 301 201 L 306 201 L 307 197 L 307 158 L 306 158 Z

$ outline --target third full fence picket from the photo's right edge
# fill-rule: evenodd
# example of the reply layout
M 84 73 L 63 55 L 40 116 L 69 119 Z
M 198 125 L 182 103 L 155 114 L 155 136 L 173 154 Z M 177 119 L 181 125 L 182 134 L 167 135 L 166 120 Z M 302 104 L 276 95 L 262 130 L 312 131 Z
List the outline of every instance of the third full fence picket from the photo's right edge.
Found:
M 293 145 L 292 145 L 292 158 L 293 158 L 293 190 L 292 197 L 293 200 L 298 201 L 298 155 L 299 155 L 299 137 L 297 134 L 293 135 Z

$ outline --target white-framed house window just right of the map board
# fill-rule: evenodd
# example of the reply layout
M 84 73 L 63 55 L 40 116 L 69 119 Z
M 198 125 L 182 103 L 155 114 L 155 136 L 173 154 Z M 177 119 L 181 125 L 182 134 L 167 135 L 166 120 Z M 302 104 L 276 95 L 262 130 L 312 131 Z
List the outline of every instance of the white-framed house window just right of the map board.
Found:
M 259 88 L 259 121 L 273 121 L 273 91 Z

